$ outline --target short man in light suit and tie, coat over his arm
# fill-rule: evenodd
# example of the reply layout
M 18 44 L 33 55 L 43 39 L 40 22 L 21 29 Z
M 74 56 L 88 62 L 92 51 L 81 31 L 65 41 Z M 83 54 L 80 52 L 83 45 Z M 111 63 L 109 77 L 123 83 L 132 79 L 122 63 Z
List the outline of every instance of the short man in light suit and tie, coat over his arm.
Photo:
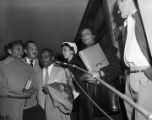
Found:
M 40 63 L 43 69 L 35 75 L 35 85 L 38 89 L 38 103 L 46 112 L 46 120 L 69 120 L 70 115 L 64 112 L 68 109 L 72 110 L 72 103 L 67 100 L 62 101 L 62 95 L 58 96 L 58 93 L 49 87 L 53 83 L 70 84 L 72 81 L 69 72 L 54 63 L 54 55 L 50 49 L 41 51 Z M 58 96 L 59 101 L 55 100 L 54 96 Z M 62 108 L 66 105 L 68 108 L 63 112 Z

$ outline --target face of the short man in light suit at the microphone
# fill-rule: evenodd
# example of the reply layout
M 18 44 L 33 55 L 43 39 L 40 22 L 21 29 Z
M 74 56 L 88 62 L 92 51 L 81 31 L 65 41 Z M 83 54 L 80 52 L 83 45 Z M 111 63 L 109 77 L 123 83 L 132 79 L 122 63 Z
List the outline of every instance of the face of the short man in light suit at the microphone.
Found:
M 50 55 L 49 51 L 44 51 L 40 55 L 40 62 L 42 67 L 48 67 L 52 64 L 54 57 Z

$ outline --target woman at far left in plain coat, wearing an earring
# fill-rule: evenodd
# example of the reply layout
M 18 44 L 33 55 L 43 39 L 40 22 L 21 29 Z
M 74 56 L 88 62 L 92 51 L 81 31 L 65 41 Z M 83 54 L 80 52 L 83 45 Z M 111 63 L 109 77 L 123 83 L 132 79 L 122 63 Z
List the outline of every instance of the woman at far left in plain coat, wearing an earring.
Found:
M 7 50 L 9 56 L 0 62 L 0 115 L 4 120 L 22 120 L 26 99 L 32 94 L 32 91 L 23 89 L 34 72 L 21 60 L 21 41 L 12 41 Z

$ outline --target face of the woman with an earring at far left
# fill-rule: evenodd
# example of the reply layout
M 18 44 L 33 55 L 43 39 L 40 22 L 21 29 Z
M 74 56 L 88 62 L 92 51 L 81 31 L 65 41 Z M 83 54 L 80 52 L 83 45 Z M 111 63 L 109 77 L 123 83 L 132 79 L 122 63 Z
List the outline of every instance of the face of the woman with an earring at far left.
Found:
M 21 59 L 23 57 L 23 46 L 22 45 L 15 45 L 11 49 L 10 55 L 14 58 Z

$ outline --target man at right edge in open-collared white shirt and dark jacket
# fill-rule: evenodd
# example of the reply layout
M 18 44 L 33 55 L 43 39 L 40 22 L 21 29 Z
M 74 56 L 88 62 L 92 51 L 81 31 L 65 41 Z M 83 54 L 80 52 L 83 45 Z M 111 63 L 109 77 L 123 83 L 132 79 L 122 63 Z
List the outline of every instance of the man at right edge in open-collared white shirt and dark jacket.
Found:
M 126 80 L 126 95 L 143 109 L 152 112 L 151 56 L 143 25 L 134 0 L 118 0 L 119 13 L 126 19 L 124 62 L 129 68 Z M 128 7 L 129 6 L 129 7 Z M 146 120 L 132 106 L 125 103 L 128 119 Z

